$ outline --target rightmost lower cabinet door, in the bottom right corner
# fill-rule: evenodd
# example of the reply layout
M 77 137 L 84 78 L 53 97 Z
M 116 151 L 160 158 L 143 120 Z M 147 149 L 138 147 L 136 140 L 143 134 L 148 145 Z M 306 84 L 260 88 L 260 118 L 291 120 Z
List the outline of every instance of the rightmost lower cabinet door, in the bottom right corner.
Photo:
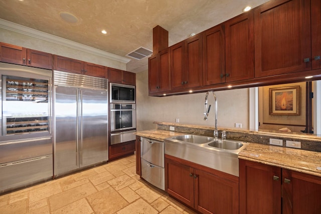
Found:
M 282 169 L 282 213 L 320 213 L 321 177 Z

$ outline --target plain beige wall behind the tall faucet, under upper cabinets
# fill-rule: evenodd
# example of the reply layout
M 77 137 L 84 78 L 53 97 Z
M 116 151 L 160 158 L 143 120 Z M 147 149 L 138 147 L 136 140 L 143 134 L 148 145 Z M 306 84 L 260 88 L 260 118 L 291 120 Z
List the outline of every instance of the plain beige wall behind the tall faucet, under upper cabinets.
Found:
M 208 103 L 212 105 L 209 119 L 204 121 L 204 99 L 206 93 L 177 95 L 169 97 L 148 96 L 148 71 L 136 74 L 136 115 L 137 131 L 156 128 L 152 122 L 175 122 L 214 126 L 214 97 L 210 95 Z M 249 128 L 249 90 L 227 90 L 216 92 L 218 100 L 218 127 Z

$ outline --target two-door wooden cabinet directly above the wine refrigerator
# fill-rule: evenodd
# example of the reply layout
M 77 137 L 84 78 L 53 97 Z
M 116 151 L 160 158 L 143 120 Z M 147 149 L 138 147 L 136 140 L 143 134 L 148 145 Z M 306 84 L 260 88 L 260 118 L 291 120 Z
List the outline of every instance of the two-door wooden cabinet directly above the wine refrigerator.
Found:
M 0 61 L 52 69 L 52 54 L 6 43 L 0 43 Z

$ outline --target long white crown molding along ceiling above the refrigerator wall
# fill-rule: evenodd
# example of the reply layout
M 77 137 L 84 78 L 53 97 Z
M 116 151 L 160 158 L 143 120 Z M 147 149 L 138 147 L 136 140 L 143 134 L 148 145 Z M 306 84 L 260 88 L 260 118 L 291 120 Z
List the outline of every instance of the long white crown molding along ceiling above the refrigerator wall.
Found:
M 70 40 L 66 40 L 64 38 L 61 37 L 57 37 L 51 34 L 47 34 L 32 28 L 28 28 L 22 25 L 18 25 L 16 23 L 12 23 L 3 19 L 0 19 L 0 28 L 9 30 L 9 31 L 13 31 L 16 33 L 20 33 L 20 34 L 24 34 L 30 37 L 34 37 L 37 39 L 41 39 L 41 40 L 45 40 L 48 42 L 52 42 L 55 44 L 59 44 L 62 46 L 66 46 L 68 48 L 73 48 L 79 51 L 83 51 L 83 52 L 87 52 L 89 54 L 93 54 L 93 55 L 97 55 L 99 57 L 104 57 L 110 60 L 115 60 L 121 63 L 128 63 L 130 61 L 130 59 L 125 58 L 125 57 L 121 57 L 118 56 L 116 54 L 112 54 L 106 51 L 102 51 L 96 48 L 92 48 L 86 45 L 82 45 L 80 43 L 76 43 Z

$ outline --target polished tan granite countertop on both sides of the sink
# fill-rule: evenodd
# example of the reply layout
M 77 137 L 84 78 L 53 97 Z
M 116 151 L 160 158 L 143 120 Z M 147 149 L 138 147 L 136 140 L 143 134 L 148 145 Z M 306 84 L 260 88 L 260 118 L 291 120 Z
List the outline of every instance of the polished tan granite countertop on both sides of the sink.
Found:
M 153 129 L 135 132 L 134 134 L 164 141 L 168 137 L 186 133 Z M 321 177 L 321 152 L 248 143 L 239 153 L 239 158 Z

